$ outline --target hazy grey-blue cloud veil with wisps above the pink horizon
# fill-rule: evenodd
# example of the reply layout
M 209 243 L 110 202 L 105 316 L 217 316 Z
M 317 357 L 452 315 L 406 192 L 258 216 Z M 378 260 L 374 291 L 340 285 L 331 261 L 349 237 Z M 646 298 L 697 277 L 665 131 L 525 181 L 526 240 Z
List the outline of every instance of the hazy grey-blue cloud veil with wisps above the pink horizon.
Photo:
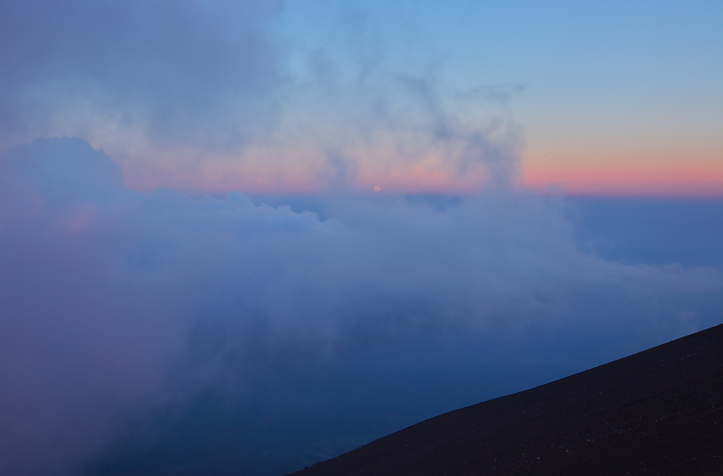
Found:
M 474 192 L 515 177 L 510 88 L 460 94 L 433 58 L 392 61 L 360 7 L 339 8 L 325 27 L 341 41 L 327 44 L 284 30 L 284 8 L 6 2 L 0 149 L 84 137 L 142 190 Z

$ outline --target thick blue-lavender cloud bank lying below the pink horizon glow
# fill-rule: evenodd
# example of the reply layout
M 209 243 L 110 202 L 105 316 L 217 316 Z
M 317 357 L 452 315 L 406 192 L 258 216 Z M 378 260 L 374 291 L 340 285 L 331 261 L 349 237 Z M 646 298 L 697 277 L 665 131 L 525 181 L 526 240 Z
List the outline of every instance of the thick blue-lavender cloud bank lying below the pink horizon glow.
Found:
M 565 203 L 534 195 L 334 195 L 322 220 L 239 192 L 134 192 L 75 138 L 8 150 L 0 194 L 3 474 L 77 467 L 138 402 L 234 399 L 422 331 L 515 354 L 719 319 L 719 270 L 581 252 Z

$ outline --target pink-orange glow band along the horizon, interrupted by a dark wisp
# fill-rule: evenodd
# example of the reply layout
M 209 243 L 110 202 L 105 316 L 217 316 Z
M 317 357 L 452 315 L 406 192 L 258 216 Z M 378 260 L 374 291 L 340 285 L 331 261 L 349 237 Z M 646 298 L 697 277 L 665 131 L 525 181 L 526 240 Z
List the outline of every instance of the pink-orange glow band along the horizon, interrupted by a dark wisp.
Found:
M 439 158 L 412 163 L 395 161 L 392 156 L 385 159 L 359 161 L 354 174 L 339 181 L 328 164 L 305 157 L 273 162 L 218 158 L 187 169 L 175 168 L 172 162 L 165 167 L 156 164 L 161 166 L 151 170 L 132 163 L 123 168 L 127 186 L 140 192 L 166 187 L 210 194 L 234 190 L 248 194 L 373 194 L 378 185 L 384 193 L 474 195 L 490 183 L 484 166 L 460 174 Z M 687 163 L 538 158 L 521 164 L 514 185 L 543 195 L 723 197 L 723 161 L 711 156 Z

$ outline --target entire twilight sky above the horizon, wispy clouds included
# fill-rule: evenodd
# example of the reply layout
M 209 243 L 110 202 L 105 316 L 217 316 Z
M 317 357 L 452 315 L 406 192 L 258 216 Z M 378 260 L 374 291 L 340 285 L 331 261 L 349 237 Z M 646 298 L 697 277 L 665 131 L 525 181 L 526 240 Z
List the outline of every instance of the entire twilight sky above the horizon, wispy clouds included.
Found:
M 80 136 L 137 190 L 723 193 L 717 1 L 0 9 L 1 148 Z

